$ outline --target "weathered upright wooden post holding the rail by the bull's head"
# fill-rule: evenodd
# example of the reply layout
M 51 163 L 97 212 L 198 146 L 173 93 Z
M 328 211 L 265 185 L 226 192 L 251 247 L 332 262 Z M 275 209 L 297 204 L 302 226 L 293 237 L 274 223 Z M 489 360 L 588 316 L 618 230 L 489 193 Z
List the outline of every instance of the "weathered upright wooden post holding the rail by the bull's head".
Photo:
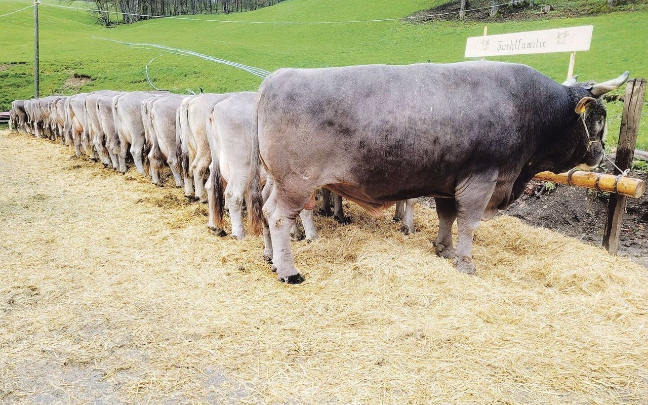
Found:
M 625 86 L 625 100 L 623 102 L 623 115 L 621 115 L 621 130 L 619 132 L 619 145 L 616 150 L 614 163 L 621 170 L 632 166 L 634 145 L 639 132 L 639 121 L 642 116 L 643 95 L 646 82 L 643 79 L 630 80 Z M 621 174 L 614 169 L 614 174 Z M 603 231 L 603 246 L 615 255 L 619 249 L 619 236 L 621 235 L 621 218 L 625 212 L 626 196 L 610 193 L 607 220 Z

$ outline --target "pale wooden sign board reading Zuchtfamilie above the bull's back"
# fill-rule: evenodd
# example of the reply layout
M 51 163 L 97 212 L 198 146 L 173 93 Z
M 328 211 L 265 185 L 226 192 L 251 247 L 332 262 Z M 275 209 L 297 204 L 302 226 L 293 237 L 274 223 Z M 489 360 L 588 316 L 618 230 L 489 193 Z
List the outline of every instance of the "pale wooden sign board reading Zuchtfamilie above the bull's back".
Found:
M 550 52 L 588 51 L 592 25 L 513 34 L 474 36 L 466 41 L 466 58 Z

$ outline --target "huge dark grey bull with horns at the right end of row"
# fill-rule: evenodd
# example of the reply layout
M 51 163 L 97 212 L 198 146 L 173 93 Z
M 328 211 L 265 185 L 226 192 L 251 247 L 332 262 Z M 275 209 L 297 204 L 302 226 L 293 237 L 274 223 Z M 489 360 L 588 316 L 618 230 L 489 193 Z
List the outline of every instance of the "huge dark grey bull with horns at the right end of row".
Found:
M 437 254 L 472 273 L 480 220 L 507 207 L 538 172 L 599 165 L 607 128 L 599 97 L 628 75 L 570 87 L 499 62 L 277 71 L 259 89 L 252 229 L 265 216 L 277 277 L 301 283 L 288 233 L 318 187 L 376 215 L 399 200 L 432 196 Z M 261 162 L 275 182 L 262 208 Z

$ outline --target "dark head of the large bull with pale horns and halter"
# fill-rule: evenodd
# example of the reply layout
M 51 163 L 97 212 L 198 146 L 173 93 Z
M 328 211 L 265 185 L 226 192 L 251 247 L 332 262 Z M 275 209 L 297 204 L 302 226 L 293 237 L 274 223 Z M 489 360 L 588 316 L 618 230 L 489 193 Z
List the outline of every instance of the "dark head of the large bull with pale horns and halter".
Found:
M 589 94 L 583 93 L 575 107 L 575 113 L 579 115 L 577 122 L 577 134 L 586 140 L 586 151 L 580 159 L 579 168 L 589 170 L 596 168 L 605 157 L 605 135 L 607 135 L 607 110 L 601 100 L 601 96 L 608 93 L 628 80 L 629 72 L 607 82 L 593 84 L 575 83 L 575 80 L 568 80 L 565 86 L 582 87 L 589 91 Z

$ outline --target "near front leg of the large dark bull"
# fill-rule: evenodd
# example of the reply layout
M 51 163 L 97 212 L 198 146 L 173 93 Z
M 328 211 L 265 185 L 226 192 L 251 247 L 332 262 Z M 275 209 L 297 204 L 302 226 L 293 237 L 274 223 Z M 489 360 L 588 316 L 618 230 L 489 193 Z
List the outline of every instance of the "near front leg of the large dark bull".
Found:
M 475 265 L 472 262 L 472 240 L 491 200 L 496 180 L 496 172 L 493 174 L 482 173 L 462 181 L 455 189 L 457 227 L 459 229 L 455 260 L 457 261 L 457 270 L 461 273 L 472 274 L 475 271 Z

